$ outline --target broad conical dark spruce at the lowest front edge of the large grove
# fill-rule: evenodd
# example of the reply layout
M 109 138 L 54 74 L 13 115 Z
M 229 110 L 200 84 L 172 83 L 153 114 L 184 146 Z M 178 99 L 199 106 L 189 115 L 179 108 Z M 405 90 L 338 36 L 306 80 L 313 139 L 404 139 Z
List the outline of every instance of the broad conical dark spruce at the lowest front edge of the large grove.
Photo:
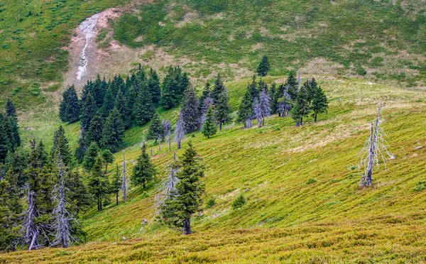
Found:
M 109 114 L 102 130 L 102 146 L 116 152 L 121 147 L 124 137 L 124 125 L 119 111 L 114 108 Z

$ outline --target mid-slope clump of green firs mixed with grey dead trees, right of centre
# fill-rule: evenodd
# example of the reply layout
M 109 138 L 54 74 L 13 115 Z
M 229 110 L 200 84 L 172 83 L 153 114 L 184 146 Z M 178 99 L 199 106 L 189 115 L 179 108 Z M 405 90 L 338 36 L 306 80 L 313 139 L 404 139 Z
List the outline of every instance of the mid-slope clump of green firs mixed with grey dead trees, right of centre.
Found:
M 296 77 L 296 72 L 291 71 L 286 82 L 277 87 L 275 83 L 268 86 L 262 79 L 256 82 L 256 76 L 253 76 L 239 105 L 236 121 L 244 123 L 246 128 L 251 127 L 253 120 L 263 126 L 266 116 L 278 114 L 291 116 L 296 126 L 301 126 L 303 119 L 310 115 L 317 122 L 317 115 L 326 112 L 327 108 L 327 96 L 315 78 L 302 84 L 300 76 Z

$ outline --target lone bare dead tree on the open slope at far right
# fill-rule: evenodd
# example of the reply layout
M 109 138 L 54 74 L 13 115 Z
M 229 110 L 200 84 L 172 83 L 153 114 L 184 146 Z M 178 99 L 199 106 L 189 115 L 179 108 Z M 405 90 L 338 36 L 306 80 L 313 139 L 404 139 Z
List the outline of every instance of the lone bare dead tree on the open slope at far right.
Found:
M 373 168 L 375 164 L 379 167 L 379 162 L 383 161 L 386 169 L 386 159 L 383 156 L 383 152 L 389 155 L 389 157 L 393 157 L 393 155 L 388 152 L 388 148 L 386 148 L 385 138 L 387 138 L 387 136 L 383 128 L 381 128 L 381 123 L 384 121 L 381 119 L 382 108 L 383 104 L 380 104 L 380 106 L 378 106 L 376 121 L 371 123 L 370 136 L 360 152 L 361 161 L 359 163 L 359 168 L 364 167 L 361 184 L 359 185 L 360 187 L 370 187 L 372 185 Z

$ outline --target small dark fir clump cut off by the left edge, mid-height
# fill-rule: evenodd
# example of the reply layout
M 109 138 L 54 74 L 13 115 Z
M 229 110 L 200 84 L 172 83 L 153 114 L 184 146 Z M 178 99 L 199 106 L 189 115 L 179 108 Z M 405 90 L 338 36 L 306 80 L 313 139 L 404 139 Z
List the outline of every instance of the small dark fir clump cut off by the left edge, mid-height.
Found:
M 21 145 L 18 117 L 11 99 L 7 99 L 4 112 L 0 112 L 0 162 L 4 162 L 7 153 Z

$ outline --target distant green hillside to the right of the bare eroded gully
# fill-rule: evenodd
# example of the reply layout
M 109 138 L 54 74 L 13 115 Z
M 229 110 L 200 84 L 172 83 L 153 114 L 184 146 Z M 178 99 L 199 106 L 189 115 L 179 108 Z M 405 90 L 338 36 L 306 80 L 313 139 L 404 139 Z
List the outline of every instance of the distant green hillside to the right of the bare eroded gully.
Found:
M 417 86 L 426 77 L 420 59 L 426 52 L 426 16 L 420 6 L 420 1 L 163 0 L 124 13 L 114 38 L 131 48 L 155 45 L 186 56 L 194 62 L 186 67 L 195 77 L 206 77 L 207 69 L 234 77 L 236 69 L 226 65 L 231 63 L 254 71 L 266 54 L 271 75 L 323 58 L 340 67 L 320 62 L 306 70 L 320 67 Z

